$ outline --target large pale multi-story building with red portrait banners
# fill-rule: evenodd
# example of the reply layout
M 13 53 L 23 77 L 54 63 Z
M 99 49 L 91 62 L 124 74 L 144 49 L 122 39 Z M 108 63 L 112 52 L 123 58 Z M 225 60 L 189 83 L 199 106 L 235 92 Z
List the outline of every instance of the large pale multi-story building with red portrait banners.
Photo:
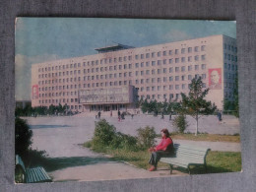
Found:
M 210 88 L 207 99 L 223 109 L 233 99 L 236 39 L 212 35 L 144 47 L 122 44 L 97 54 L 32 65 L 32 106 L 67 104 L 71 110 L 117 110 L 136 99 L 179 100 L 193 78 Z

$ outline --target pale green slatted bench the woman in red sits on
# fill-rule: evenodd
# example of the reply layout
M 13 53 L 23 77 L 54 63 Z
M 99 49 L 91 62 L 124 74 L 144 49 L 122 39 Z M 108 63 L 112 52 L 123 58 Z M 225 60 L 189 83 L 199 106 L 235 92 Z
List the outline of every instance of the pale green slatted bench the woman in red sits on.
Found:
M 161 158 L 161 162 L 170 165 L 170 173 L 172 173 L 173 165 L 186 168 L 190 174 L 190 165 L 204 165 L 206 172 L 206 156 L 210 149 L 174 144 L 174 155 L 171 157 Z

